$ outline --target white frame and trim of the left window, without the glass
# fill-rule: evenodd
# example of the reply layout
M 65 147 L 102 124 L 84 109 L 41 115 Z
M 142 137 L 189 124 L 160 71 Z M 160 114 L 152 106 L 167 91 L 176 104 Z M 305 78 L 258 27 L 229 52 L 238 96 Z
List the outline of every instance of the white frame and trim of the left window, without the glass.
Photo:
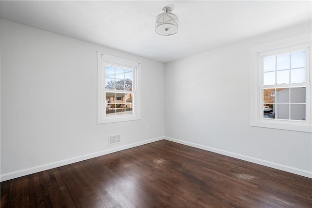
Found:
M 97 52 L 98 57 L 98 124 L 141 119 L 140 71 L 141 62 L 128 58 Z M 133 70 L 133 113 L 106 116 L 106 91 L 128 93 L 128 91 L 105 89 L 105 65 L 118 66 Z

